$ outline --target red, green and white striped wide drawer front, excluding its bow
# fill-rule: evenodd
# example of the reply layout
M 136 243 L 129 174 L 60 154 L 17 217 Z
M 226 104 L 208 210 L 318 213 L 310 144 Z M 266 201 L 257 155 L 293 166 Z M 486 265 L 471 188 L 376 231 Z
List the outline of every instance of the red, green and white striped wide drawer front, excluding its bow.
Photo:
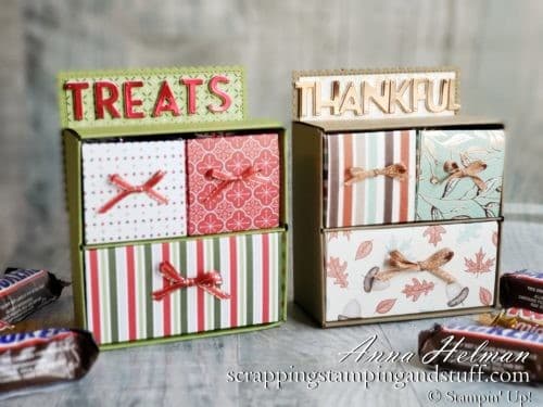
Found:
M 112 344 L 278 321 L 280 241 L 275 232 L 87 250 L 87 327 Z M 184 277 L 218 271 L 230 298 L 190 287 L 153 301 L 163 260 Z

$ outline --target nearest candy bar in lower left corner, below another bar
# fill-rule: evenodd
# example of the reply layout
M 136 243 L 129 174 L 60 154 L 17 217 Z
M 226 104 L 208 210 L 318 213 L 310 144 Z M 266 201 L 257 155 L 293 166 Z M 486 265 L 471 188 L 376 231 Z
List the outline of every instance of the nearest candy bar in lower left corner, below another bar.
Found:
M 87 331 L 51 328 L 0 335 L 0 392 L 80 379 L 98 352 Z

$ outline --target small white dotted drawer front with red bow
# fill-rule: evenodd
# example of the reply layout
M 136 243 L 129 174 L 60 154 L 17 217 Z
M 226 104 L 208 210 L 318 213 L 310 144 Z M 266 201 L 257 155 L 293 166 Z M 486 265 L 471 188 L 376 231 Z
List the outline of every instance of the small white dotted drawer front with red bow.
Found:
M 185 141 L 84 143 L 85 243 L 186 233 Z

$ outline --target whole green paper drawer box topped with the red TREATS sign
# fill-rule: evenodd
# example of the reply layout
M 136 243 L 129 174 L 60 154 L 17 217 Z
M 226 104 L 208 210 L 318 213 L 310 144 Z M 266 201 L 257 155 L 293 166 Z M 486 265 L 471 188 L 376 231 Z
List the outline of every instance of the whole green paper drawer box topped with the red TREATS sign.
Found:
M 243 69 L 59 87 L 76 325 L 113 348 L 283 321 L 286 132 L 245 118 Z

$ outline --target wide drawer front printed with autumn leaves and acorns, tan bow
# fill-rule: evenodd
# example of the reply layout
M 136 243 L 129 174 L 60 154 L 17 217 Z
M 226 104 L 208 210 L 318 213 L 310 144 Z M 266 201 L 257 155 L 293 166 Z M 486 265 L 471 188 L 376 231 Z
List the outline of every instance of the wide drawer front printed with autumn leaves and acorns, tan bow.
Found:
M 497 221 L 328 231 L 326 319 L 494 304 Z

